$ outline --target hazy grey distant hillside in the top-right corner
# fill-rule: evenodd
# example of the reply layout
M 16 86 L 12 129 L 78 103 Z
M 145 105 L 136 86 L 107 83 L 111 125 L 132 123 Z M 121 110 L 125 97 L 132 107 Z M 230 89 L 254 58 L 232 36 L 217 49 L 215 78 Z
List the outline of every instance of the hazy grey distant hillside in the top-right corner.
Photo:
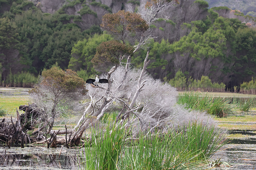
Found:
M 244 15 L 256 17 L 256 0 L 206 0 L 209 8 L 226 6 L 232 10 L 240 10 Z

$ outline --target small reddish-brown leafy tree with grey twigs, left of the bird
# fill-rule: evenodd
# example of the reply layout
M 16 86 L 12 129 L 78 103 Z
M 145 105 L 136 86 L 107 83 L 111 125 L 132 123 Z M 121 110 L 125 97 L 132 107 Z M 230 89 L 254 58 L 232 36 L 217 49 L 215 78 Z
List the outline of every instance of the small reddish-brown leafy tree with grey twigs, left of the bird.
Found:
M 75 101 L 86 94 L 85 82 L 72 70 L 53 67 L 42 72 L 40 83 L 30 90 L 33 102 L 43 109 L 43 119 L 51 133 L 55 117 L 67 112 Z

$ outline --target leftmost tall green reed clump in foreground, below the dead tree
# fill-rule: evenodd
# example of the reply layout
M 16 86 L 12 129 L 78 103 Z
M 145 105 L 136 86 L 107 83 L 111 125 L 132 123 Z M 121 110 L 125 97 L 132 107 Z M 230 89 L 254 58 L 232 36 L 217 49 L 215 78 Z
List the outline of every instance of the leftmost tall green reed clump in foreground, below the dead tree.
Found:
M 115 170 L 124 144 L 126 130 L 120 125 L 106 126 L 100 131 L 91 129 L 92 141 L 85 144 L 84 168 L 88 170 Z

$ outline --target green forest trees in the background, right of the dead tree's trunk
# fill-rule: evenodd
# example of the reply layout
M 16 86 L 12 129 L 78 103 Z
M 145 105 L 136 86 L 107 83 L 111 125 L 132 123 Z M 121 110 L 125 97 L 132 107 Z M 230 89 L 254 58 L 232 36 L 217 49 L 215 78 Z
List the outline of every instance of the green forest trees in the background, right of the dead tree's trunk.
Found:
M 148 70 L 155 78 L 171 80 L 181 70 L 187 80 L 208 76 L 212 82 L 223 82 L 231 88 L 255 76 L 256 29 L 238 19 L 218 17 L 212 10 L 208 10 L 205 20 L 184 27 L 191 31 L 177 42 L 170 44 L 162 39 L 149 43 Z M 134 55 L 136 66 L 140 66 L 147 50 Z

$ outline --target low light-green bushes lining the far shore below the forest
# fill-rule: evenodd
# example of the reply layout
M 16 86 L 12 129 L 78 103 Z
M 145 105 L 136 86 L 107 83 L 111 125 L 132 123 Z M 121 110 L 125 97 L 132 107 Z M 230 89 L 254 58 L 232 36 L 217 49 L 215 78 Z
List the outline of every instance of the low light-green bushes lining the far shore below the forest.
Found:
M 58 65 L 58 64 L 56 64 Z M 77 71 L 78 76 L 86 80 L 90 76 L 84 76 L 84 72 L 82 70 Z M 18 76 L 17 78 L 15 78 Z M 0 89 L 4 88 L 14 88 L 14 89 L 22 89 L 22 88 L 33 88 L 35 84 L 38 83 L 40 75 L 37 77 L 31 73 L 19 73 L 12 75 L 8 80 L 0 82 Z M 233 86 L 232 88 L 226 88 L 224 83 L 216 83 L 212 82 L 208 76 L 202 76 L 200 80 L 186 78 L 186 76 L 180 70 L 176 72 L 174 78 L 167 80 L 164 78 L 164 82 L 175 87 L 179 92 L 182 91 L 203 91 L 203 92 L 234 92 L 239 94 L 252 94 L 256 95 L 256 78 L 252 77 L 252 80 L 249 82 L 243 82 L 240 86 Z

